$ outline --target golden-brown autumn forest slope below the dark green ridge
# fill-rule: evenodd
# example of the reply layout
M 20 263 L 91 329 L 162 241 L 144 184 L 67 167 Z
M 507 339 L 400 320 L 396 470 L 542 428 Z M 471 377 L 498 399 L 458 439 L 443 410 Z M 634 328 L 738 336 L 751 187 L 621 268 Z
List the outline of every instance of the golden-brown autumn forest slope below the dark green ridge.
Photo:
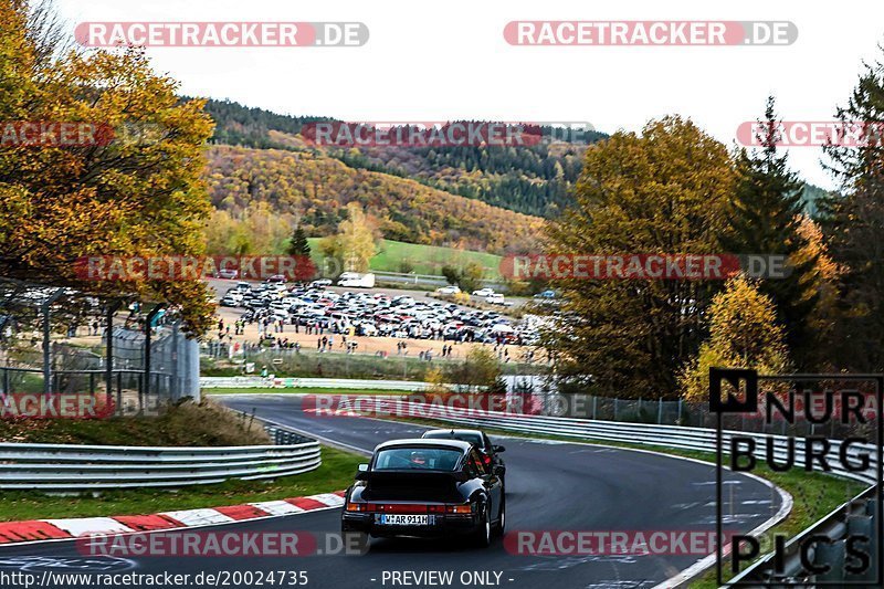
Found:
M 354 201 L 390 240 L 504 253 L 529 250 L 540 233 L 539 218 L 354 169 L 323 154 L 212 146 L 207 157 L 214 207 L 235 211 L 266 202 L 299 219 L 308 235 L 334 232 Z

